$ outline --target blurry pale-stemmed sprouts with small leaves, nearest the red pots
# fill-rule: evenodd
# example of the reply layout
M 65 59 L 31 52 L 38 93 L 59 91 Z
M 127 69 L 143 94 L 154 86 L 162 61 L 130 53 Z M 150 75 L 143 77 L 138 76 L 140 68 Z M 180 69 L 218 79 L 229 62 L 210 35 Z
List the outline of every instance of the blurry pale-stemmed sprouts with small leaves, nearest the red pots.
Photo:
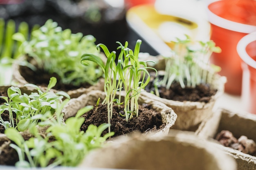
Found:
M 215 46 L 213 41 L 192 41 L 186 35 L 185 40 L 177 38 L 177 41 L 173 43 L 175 45 L 172 55 L 164 56 L 166 60 L 165 75 L 159 83 L 166 86 L 166 89 L 169 89 L 174 81 L 179 82 L 182 88 L 207 83 L 208 75 L 213 75 L 220 70 L 220 67 L 210 67 L 209 64 L 211 53 L 221 52 L 220 47 Z

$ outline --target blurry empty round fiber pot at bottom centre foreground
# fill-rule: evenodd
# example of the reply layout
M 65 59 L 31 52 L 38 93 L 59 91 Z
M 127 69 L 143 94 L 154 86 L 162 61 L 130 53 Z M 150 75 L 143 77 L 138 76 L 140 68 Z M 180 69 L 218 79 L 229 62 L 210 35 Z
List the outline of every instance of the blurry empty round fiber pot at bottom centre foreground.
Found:
M 135 170 L 236 170 L 236 163 L 193 132 L 168 136 L 122 136 L 92 151 L 79 166 Z

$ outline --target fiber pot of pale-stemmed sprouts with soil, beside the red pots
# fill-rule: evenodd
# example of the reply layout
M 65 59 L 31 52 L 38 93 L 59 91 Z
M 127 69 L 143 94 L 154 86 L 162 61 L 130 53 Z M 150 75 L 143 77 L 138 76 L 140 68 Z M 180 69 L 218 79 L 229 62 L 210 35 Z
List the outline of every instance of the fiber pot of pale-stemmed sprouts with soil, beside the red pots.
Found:
M 224 91 L 225 77 L 216 73 L 220 68 L 209 64 L 211 53 L 220 48 L 212 41 L 192 41 L 189 36 L 173 44 L 171 56 L 159 58 L 165 62 L 158 63 L 165 65 L 154 66 L 165 70 L 158 71 L 145 88 L 150 93 L 142 95 L 173 108 L 178 116 L 173 128 L 194 131 L 213 114 L 214 103 Z

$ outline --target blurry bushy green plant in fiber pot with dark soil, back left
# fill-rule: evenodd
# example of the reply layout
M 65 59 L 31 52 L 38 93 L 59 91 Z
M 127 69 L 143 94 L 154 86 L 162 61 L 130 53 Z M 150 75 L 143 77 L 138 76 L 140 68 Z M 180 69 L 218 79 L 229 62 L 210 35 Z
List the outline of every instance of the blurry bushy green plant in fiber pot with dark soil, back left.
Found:
M 30 40 L 20 33 L 14 34 L 13 38 L 22 42 L 19 50 L 23 55 L 13 64 L 13 82 L 46 86 L 49 77 L 54 76 L 58 80 L 54 88 L 66 91 L 70 97 L 79 96 L 88 87 L 100 88 L 97 82 L 103 75 L 101 69 L 94 63 L 83 67 L 79 62 L 83 53 L 100 55 L 92 35 L 62 30 L 49 19 L 31 32 Z

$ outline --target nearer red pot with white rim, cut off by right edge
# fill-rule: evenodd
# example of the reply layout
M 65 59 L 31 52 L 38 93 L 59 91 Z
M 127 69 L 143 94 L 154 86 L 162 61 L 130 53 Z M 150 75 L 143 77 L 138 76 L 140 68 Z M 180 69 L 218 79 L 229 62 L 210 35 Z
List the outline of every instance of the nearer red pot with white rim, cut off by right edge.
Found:
M 256 114 L 256 32 L 243 37 L 237 45 L 243 68 L 242 102 L 246 111 Z

